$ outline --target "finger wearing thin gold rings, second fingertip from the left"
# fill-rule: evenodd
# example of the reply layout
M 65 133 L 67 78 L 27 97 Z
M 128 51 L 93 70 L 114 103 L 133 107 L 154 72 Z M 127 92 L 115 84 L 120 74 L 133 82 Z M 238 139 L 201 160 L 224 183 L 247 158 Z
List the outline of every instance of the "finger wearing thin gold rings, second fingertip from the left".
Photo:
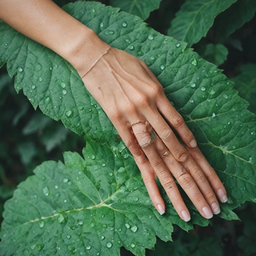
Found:
M 132 127 L 134 135 L 136 136 L 138 143 L 143 146 L 150 139 L 151 135 L 146 130 L 145 125 L 136 124 Z M 165 163 L 162 161 L 161 157 L 156 152 L 154 145 L 149 144 L 142 148 L 145 155 L 147 156 L 150 164 L 152 165 L 156 175 L 158 176 L 160 183 L 162 184 L 164 190 L 166 191 L 168 197 L 170 198 L 173 207 L 180 216 L 181 219 L 188 221 L 190 215 L 188 209 L 178 191 L 177 185 Z

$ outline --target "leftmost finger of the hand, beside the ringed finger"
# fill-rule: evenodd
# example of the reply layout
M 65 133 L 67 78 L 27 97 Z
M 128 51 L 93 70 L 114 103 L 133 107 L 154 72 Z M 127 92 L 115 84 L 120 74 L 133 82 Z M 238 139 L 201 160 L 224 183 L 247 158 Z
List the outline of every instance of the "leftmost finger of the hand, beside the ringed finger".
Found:
M 146 156 L 143 150 L 139 148 L 134 138 L 131 127 L 128 127 L 128 126 L 121 127 L 121 125 L 118 125 L 118 124 L 115 127 L 120 137 L 122 138 L 123 142 L 125 143 L 126 147 L 130 150 L 131 154 L 134 157 L 134 160 L 141 172 L 147 192 L 149 194 L 149 197 L 154 207 L 159 212 L 159 214 L 162 215 L 165 212 L 165 205 L 160 195 L 158 186 L 156 184 L 155 172 L 150 162 L 146 159 Z

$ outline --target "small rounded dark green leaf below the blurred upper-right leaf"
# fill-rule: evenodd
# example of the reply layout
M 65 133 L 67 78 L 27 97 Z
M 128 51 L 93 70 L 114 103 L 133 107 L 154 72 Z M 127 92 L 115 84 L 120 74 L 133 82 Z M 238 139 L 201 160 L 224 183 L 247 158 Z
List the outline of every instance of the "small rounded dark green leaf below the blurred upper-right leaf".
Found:
M 223 64 L 227 58 L 228 50 L 223 44 L 212 44 L 203 45 L 198 54 L 209 62 L 219 66 Z

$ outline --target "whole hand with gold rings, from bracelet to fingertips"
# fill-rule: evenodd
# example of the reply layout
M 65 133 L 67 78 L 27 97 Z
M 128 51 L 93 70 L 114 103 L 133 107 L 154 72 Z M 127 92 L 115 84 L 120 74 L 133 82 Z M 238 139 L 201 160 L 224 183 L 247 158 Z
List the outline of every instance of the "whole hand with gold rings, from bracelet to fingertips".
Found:
M 82 70 L 79 73 L 81 75 Z M 132 153 L 160 214 L 165 207 L 155 176 L 180 218 L 190 219 L 172 174 L 203 217 L 211 218 L 212 212 L 219 213 L 216 195 L 222 202 L 227 200 L 223 184 L 198 149 L 184 120 L 168 101 L 163 87 L 142 60 L 111 47 L 86 71 L 82 80 Z M 133 123 L 136 124 L 131 125 Z M 151 127 L 156 137 L 154 142 L 140 148 L 138 144 L 143 146 L 150 141 Z

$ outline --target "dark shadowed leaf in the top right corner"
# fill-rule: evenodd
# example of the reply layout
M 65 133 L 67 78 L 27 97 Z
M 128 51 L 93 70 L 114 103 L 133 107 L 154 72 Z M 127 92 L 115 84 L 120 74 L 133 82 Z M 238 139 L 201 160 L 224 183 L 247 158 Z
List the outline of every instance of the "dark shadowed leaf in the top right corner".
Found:
M 216 17 L 216 37 L 223 38 L 252 19 L 256 11 L 255 0 L 237 0 Z

